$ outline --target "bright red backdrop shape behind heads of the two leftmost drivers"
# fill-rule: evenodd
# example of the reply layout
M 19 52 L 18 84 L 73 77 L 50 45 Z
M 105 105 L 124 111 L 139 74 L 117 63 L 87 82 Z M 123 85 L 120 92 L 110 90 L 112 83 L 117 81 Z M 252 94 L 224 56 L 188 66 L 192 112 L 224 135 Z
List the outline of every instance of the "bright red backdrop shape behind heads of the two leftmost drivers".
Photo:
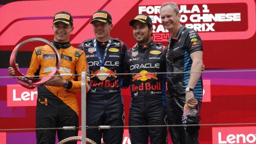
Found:
M 66 3 L 65 9 L 62 6 L 55 6 L 60 5 L 60 3 Z M 73 16 L 75 31 L 71 33 L 73 39 L 70 42 L 80 44 L 84 39 L 94 37 L 92 25 L 88 24 L 90 24 L 91 15 L 95 11 L 104 9 L 109 13 L 115 13 L 115 17 L 113 17 L 113 23 L 115 25 L 129 11 L 129 9 L 123 9 L 122 7 L 129 8 L 134 6 L 135 3 L 137 3 L 135 0 L 129 1 L 129 3 L 119 3 L 118 0 L 100 0 L 97 1 L 97 5 L 95 5 L 94 1 L 82 0 L 76 1 L 76 3 L 70 3 L 68 0 L 9 3 L 0 9 L 0 17 L 2 19 L 0 23 L 0 45 L 15 45 L 25 36 L 53 35 L 51 29 L 52 18 L 59 11 L 69 11 Z M 26 7 L 30 8 L 27 9 Z M 13 11 L 19 11 L 19 13 L 6 14 L 12 13 Z M 10 38 L 10 35 L 14 37 Z

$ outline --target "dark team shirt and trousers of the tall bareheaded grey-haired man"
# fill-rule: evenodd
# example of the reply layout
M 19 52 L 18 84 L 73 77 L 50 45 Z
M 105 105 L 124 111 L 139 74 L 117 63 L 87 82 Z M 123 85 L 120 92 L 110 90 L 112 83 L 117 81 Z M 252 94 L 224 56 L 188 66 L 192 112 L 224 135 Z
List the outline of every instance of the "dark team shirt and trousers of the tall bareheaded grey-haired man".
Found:
M 169 50 L 166 54 L 167 72 L 189 72 L 192 65 L 190 54 L 203 51 L 201 38 L 195 30 L 181 26 L 178 34 L 169 39 Z M 186 103 L 185 88 L 188 85 L 190 73 L 167 74 L 166 111 L 170 125 L 182 124 L 181 117 Z M 200 110 L 203 95 L 202 77 L 195 88 L 194 97 L 198 100 Z M 199 111 L 198 111 L 199 112 Z M 199 143 L 198 132 L 188 133 L 184 127 L 169 127 L 173 143 Z

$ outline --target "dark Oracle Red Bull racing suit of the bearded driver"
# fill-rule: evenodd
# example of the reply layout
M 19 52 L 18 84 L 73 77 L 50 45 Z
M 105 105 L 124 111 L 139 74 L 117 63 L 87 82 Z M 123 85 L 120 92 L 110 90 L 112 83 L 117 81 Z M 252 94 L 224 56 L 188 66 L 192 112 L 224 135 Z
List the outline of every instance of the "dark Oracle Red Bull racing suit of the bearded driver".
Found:
M 146 48 L 146 49 L 145 49 Z M 162 44 L 149 44 L 127 50 L 125 70 L 130 75 L 131 107 L 129 126 L 165 125 L 166 49 Z M 145 74 L 150 73 L 150 74 Z M 130 127 L 132 143 L 166 143 L 166 127 Z

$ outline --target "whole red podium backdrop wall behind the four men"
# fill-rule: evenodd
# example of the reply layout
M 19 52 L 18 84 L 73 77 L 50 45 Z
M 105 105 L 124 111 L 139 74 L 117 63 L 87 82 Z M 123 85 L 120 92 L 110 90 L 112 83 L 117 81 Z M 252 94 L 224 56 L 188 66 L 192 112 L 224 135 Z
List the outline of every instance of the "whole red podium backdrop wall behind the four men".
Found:
M 182 17 L 182 24 L 187 24 L 188 27 L 197 29 L 199 36 L 203 39 L 203 62 L 206 69 L 255 70 L 255 1 L 173 0 L 173 2 L 181 7 L 182 14 L 186 15 L 186 17 Z M 114 28 L 111 30 L 110 36 L 120 38 L 126 43 L 127 49 L 130 49 L 136 43 L 133 38 L 132 27 L 129 26 L 129 21 L 139 12 L 147 13 L 153 19 L 155 26 L 153 34 L 154 41 L 166 45 L 166 40 L 170 37 L 170 34 L 161 27 L 161 20 L 158 19 L 159 7 L 164 2 L 166 1 L 99 0 L 95 4 L 95 1 L 91 0 L 78 0 L 75 3 L 68 0 L 56 0 L 19 1 L 0 5 L 0 50 L 2 51 L 0 74 L 2 76 L 8 76 L 7 67 L 9 67 L 9 64 L 6 64 L 9 63 L 10 55 L 8 54 L 21 41 L 32 37 L 42 37 L 49 41 L 52 40 L 52 18 L 54 13 L 59 11 L 69 11 L 73 15 L 75 29 L 71 33 L 70 42 L 75 47 L 85 39 L 94 37 L 90 18 L 93 12 L 100 9 L 107 10 L 113 18 Z M 202 17 L 203 19 L 203 17 L 208 17 L 207 14 L 212 14 L 215 17 L 218 14 L 220 18 L 211 21 L 198 21 L 198 18 Z M 31 45 L 25 45 L 21 51 L 32 51 L 33 46 Z M 20 53 L 21 57 L 27 57 L 26 54 Z M 236 74 L 220 75 L 211 73 L 211 75 L 203 77 L 205 78 L 204 103 L 201 108 L 201 123 L 254 122 L 256 119 L 254 110 L 256 91 L 255 74 L 241 73 L 241 76 L 237 76 Z M 17 82 L 14 82 L 13 79 L 11 81 L 0 79 L 0 81 L 4 81 L 1 87 L 3 97 L 0 97 L 2 104 L 0 105 L 0 129 L 35 127 L 35 107 L 27 107 L 36 105 L 35 91 L 29 91 L 20 85 L 13 85 L 13 87 L 7 89 L 6 84 L 17 84 Z M 125 126 L 127 126 L 129 124 L 131 101 L 130 89 L 122 91 L 126 119 Z M 77 95 L 80 95 L 80 93 Z M 78 103 L 81 103 L 79 100 L 81 100 L 81 96 L 78 97 Z M 7 108 L 6 101 L 8 101 Z M 17 106 L 24 107 L 17 108 Z M 79 121 L 81 121 L 81 117 L 79 117 Z M 15 125 L 12 125 L 13 123 Z M 255 132 L 241 132 L 243 129 L 251 131 L 255 127 L 252 129 L 246 129 L 246 127 L 237 127 L 234 129 L 229 129 L 229 127 L 219 128 L 221 127 L 212 129 L 212 126 L 202 126 L 199 132 L 200 143 L 210 144 L 213 140 L 215 143 L 238 143 L 237 134 L 244 134 L 240 135 L 239 143 L 256 143 L 254 142 Z M 230 133 L 222 132 L 222 130 L 230 131 Z M 239 132 L 237 132 L 238 130 Z M 2 139 L 3 133 L 0 133 L 1 144 L 3 143 L 2 140 L 8 141 L 10 133 L 4 133 L 4 139 Z M 17 133 L 20 133 L 20 131 Z M 212 133 L 215 134 L 214 137 L 212 137 Z M 127 129 L 125 130 L 123 140 L 124 143 L 129 143 Z

